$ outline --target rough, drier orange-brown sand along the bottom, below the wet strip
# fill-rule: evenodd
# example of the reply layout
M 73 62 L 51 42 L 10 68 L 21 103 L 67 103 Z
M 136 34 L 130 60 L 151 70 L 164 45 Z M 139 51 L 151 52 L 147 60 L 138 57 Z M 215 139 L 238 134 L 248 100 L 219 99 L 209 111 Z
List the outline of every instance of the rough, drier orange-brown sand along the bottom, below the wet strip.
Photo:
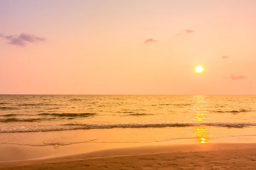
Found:
M 0 170 L 241 169 L 256 170 L 255 143 L 145 146 L 102 150 L 54 159 L 0 162 Z

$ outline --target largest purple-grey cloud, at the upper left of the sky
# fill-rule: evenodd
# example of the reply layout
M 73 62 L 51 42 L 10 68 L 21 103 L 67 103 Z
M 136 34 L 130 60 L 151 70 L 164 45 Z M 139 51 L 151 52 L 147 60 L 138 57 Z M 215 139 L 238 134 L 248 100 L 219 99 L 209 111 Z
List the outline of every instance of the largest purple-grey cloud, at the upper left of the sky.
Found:
M 37 43 L 37 42 L 43 42 L 46 39 L 42 37 L 36 37 L 35 35 L 21 33 L 19 35 L 8 35 L 5 36 L 3 34 L 0 34 L 0 37 L 3 39 L 6 39 L 8 41 L 8 44 L 12 45 L 18 45 L 18 46 L 25 46 L 27 42 L 31 43 Z

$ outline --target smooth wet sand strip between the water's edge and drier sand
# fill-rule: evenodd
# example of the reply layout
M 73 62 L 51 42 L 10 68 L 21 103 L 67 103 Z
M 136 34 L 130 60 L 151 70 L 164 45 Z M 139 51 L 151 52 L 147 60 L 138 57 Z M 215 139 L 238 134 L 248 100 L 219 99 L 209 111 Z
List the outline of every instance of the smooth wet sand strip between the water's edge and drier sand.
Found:
M 202 140 L 203 139 L 203 140 Z M 139 148 L 139 147 L 163 147 L 163 146 L 186 146 L 200 144 L 251 144 L 256 143 L 256 136 L 225 136 L 220 138 L 189 138 L 189 139 L 170 139 L 159 142 L 94 142 L 90 140 L 76 144 L 49 144 L 33 146 L 29 144 L 0 144 L 0 163 L 16 161 L 32 161 L 56 159 L 60 157 L 72 157 L 80 154 L 101 152 L 105 150 Z

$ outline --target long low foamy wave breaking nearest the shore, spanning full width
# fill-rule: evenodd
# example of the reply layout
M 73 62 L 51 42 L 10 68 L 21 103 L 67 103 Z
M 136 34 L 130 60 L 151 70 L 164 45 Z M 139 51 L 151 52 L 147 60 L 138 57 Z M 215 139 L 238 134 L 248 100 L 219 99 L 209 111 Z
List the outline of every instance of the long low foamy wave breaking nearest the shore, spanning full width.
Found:
M 15 118 L 14 118 L 15 119 Z M 11 119 L 9 119 L 11 121 Z M 29 120 L 28 120 L 29 121 Z M 20 121 L 22 122 L 22 121 Z M 24 121 L 23 121 L 24 122 Z M 243 128 L 248 126 L 256 126 L 256 122 L 245 123 L 173 123 L 173 124 L 116 124 L 116 125 L 95 125 L 95 124 L 62 124 L 62 125 L 37 125 L 37 126 L 21 126 L 13 129 L 2 128 L 0 133 L 14 132 L 47 132 L 62 130 L 90 130 L 90 129 L 111 129 L 111 128 L 161 128 L 161 127 L 200 127 L 215 126 L 227 128 Z

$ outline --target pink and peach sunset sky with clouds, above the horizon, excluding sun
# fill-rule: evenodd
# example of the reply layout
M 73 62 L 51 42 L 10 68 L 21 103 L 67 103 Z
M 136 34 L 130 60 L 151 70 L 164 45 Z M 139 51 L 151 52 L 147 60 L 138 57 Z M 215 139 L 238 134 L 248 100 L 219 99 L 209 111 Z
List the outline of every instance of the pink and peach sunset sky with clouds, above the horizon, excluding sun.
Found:
M 0 94 L 256 94 L 255 9 L 256 0 L 0 0 Z

